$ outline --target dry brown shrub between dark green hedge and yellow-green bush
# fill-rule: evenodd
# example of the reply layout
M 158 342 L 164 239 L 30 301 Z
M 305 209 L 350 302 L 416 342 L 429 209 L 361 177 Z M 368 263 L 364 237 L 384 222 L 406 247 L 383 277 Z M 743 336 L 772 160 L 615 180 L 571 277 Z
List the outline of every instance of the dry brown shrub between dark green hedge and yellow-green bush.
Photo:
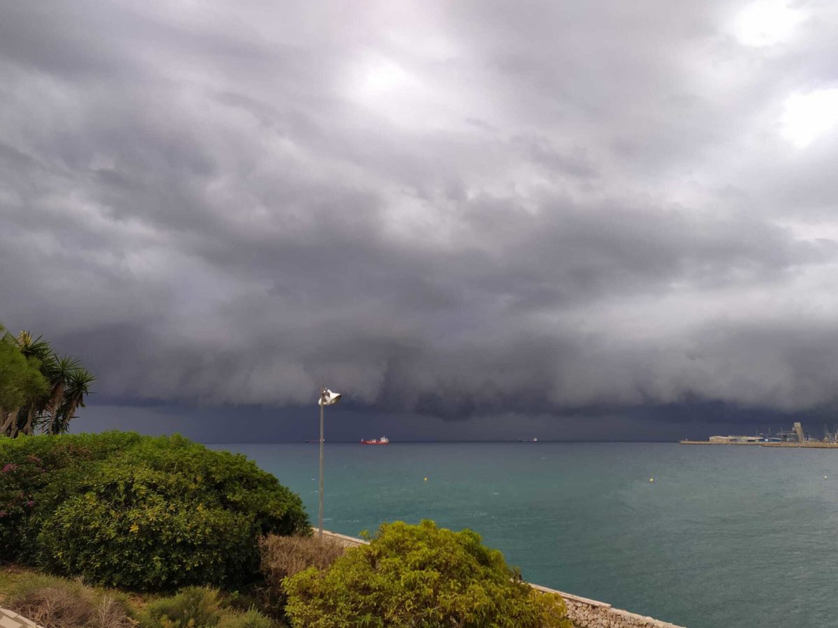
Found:
M 261 605 L 282 615 L 286 604 L 284 581 L 303 569 L 326 569 L 343 556 L 345 548 L 332 538 L 280 537 L 270 535 L 259 543 L 265 584 Z

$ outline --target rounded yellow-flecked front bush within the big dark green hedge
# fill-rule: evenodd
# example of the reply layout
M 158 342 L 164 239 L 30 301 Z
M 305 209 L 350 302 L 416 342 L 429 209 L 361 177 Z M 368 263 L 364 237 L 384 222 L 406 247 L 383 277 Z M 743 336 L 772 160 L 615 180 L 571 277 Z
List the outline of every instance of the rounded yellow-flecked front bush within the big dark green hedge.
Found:
M 184 476 L 106 466 L 47 519 L 41 555 L 60 573 L 129 589 L 250 575 L 256 534 L 248 517 L 187 497 L 189 486 Z

